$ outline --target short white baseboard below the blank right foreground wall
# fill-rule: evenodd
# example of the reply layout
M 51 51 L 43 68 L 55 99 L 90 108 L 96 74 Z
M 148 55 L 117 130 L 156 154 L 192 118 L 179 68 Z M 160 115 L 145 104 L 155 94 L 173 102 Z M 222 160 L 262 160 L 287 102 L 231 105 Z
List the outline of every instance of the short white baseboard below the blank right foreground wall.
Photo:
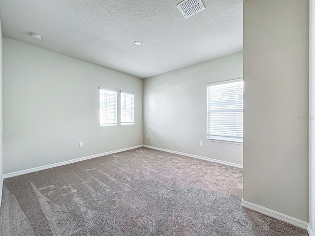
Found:
M 299 219 L 294 218 L 292 216 L 285 215 L 285 214 L 280 213 L 278 211 L 271 210 L 271 209 L 268 209 L 266 207 L 261 207 L 259 205 L 256 205 L 256 204 L 244 201 L 244 200 L 242 200 L 242 207 L 249 208 L 251 210 L 257 211 L 257 212 L 262 213 L 264 215 L 268 215 L 272 218 L 284 221 L 286 223 L 289 223 L 291 225 L 295 225 L 295 226 L 300 227 L 300 228 L 305 229 L 305 230 L 308 228 L 308 222 L 306 222 L 306 221 L 299 220 Z

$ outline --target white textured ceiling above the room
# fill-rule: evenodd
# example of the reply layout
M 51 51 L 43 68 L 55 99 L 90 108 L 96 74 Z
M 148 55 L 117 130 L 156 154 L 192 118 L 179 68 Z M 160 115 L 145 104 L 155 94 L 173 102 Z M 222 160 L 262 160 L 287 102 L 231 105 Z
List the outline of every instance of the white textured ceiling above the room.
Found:
M 0 0 L 2 33 L 140 78 L 242 50 L 243 0 L 203 0 L 188 19 L 180 1 Z

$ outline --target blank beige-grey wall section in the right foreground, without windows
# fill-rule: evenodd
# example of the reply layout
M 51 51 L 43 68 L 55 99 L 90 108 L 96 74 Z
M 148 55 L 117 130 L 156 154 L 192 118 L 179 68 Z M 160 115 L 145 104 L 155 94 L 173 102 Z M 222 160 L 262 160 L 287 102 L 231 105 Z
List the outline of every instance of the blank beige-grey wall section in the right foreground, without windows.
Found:
M 243 199 L 308 221 L 308 0 L 243 12 Z

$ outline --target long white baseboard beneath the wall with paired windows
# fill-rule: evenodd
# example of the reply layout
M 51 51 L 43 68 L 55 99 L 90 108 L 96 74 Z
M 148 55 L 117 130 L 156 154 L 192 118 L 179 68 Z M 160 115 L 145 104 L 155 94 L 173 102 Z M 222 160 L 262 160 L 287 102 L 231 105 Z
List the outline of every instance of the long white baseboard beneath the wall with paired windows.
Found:
M 79 162 L 79 161 L 84 161 L 84 160 L 93 159 L 93 158 L 100 157 L 100 156 L 105 156 L 105 155 L 114 154 L 117 152 L 122 152 L 122 151 L 127 151 L 127 150 L 131 150 L 131 149 L 135 149 L 135 148 L 142 148 L 142 147 L 143 147 L 143 145 L 133 146 L 133 147 L 129 147 L 129 148 L 122 148 L 122 149 L 118 149 L 118 150 L 107 151 L 107 152 L 103 152 L 103 153 L 99 153 L 99 154 L 95 154 L 95 155 L 91 155 L 91 156 L 80 157 L 77 159 L 58 162 L 58 163 L 49 164 L 49 165 L 45 165 L 45 166 L 34 167 L 31 169 L 27 169 L 27 170 L 11 172 L 8 174 L 4 174 L 3 178 L 21 176 L 21 175 L 29 174 L 29 173 L 36 172 L 36 171 L 42 171 L 42 170 L 50 169 L 50 168 L 57 167 L 57 166 L 63 166 L 66 164 L 71 164 L 71 163 L 75 163 L 75 162 Z

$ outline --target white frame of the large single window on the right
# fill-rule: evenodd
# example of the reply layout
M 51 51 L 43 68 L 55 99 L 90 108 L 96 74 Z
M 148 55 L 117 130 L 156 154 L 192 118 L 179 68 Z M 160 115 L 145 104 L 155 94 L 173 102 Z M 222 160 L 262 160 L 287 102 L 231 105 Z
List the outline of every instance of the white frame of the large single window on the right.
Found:
M 228 109 L 226 110 L 221 110 L 225 111 L 225 112 L 231 112 L 231 111 L 236 111 L 236 112 L 242 112 L 243 113 L 243 122 L 244 122 L 244 80 L 243 78 L 237 78 L 237 79 L 232 79 L 232 80 L 225 80 L 225 81 L 220 81 L 220 82 L 214 82 L 214 83 L 210 83 L 206 85 L 206 89 L 207 89 L 207 136 L 206 139 L 208 141 L 214 141 L 214 142 L 223 142 L 223 143 L 232 143 L 232 144 L 243 144 L 243 137 L 233 137 L 233 136 L 218 136 L 218 135 L 210 135 L 208 134 L 208 128 L 209 128 L 209 120 L 210 118 L 209 116 L 209 94 L 208 94 L 208 87 L 211 86 L 217 86 L 217 85 L 223 85 L 223 84 L 229 84 L 229 83 L 234 83 L 234 82 L 243 82 L 243 109 L 231 109 L 230 111 Z M 211 110 L 211 109 L 210 109 Z M 216 111 L 213 111 L 216 112 Z M 219 112 L 219 111 L 217 111 Z M 210 111 L 211 113 L 211 111 Z M 244 126 L 243 126 L 243 131 L 244 131 Z

